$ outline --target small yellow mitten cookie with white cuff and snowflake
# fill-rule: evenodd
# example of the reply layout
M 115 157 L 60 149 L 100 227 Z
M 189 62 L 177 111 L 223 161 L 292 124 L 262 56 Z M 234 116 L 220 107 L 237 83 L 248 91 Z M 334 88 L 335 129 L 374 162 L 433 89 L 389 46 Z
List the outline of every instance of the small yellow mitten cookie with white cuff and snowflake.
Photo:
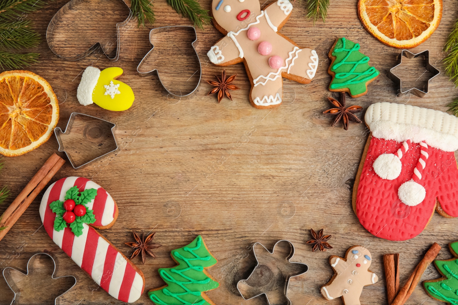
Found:
M 102 71 L 96 67 L 87 67 L 83 72 L 76 93 L 80 104 L 87 106 L 96 103 L 98 106 L 111 111 L 129 109 L 135 96 L 130 86 L 116 80 L 122 72 L 122 69 L 118 67 L 111 67 Z

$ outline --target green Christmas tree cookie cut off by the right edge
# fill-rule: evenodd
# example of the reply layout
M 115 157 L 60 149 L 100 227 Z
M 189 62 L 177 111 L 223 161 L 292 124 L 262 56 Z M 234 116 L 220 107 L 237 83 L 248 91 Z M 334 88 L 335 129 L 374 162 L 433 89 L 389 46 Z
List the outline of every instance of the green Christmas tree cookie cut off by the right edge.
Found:
M 455 258 L 445 261 L 434 261 L 443 278 L 423 282 L 426 292 L 436 300 L 458 305 L 458 241 L 448 247 Z

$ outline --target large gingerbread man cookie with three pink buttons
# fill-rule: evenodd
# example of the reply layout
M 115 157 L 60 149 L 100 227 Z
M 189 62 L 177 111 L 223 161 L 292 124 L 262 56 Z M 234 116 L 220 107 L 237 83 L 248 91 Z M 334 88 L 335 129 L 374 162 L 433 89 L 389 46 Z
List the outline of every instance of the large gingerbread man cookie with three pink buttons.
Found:
M 291 15 L 289 0 L 277 0 L 261 10 L 257 0 L 213 0 L 213 23 L 226 36 L 207 56 L 213 64 L 243 61 L 251 81 L 250 102 L 259 109 L 280 106 L 282 77 L 308 84 L 318 67 L 318 55 L 299 48 L 278 33 Z

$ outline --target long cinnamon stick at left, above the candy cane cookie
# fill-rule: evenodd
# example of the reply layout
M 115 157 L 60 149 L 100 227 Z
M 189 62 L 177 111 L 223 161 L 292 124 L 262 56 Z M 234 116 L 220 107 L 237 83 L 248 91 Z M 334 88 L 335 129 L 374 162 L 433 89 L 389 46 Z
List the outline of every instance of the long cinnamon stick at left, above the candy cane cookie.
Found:
M 44 165 L 38 170 L 35 176 L 33 176 L 30 182 L 27 183 L 22 192 L 19 193 L 15 200 L 13 200 L 11 205 L 2 215 L 3 224 L 0 226 L 6 228 L 0 231 L 0 241 L 16 223 L 19 217 L 22 216 L 38 194 L 43 190 L 46 184 L 48 184 L 48 182 L 54 177 L 55 173 L 59 171 L 60 167 L 64 165 L 64 163 L 65 160 L 60 158 L 60 156 L 55 153 L 51 155 Z

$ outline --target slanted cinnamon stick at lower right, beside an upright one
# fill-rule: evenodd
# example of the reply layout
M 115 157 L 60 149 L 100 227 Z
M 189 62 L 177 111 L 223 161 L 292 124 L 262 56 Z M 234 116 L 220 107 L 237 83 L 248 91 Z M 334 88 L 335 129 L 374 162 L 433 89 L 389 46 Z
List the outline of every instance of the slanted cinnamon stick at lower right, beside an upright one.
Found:
M 421 275 L 425 272 L 426 268 L 428 268 L 429 264 L 431 264 L 431 262 L 436 258 L 437 254 L 439 254 L 439 251 L 441 251 L 441 246 L 437 243 L 434 243 L 431 248 L 429 248 L 425 257 L 423 257 L 417 267 L 415 267 L 414 272 L 410 274 L 409 279 L 399 291 L 392 305 L 404 305 L 410 295 L 414 292 L 418 282 L 420 282 Z

